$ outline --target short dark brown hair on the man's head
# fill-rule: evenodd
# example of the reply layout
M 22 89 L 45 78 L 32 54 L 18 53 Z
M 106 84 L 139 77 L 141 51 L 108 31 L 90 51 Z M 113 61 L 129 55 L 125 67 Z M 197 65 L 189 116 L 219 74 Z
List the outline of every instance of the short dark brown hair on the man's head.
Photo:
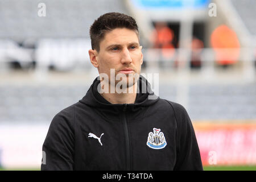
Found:
M 138 26 L 133 17 L 122 13 L 106 13 L 95 20 L 90 27 L 92 49 L 100 51 L 101 40 L 104 38 L 106 32 L 112 31 L 114 28 L 133 30 L 139 38 Z

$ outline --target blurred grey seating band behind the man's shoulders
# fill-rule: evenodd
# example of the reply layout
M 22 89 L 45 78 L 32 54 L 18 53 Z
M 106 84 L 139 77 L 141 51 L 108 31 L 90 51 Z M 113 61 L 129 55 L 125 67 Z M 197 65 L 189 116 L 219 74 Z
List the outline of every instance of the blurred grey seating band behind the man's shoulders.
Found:
M 60 110 L 75 104 L 87 86 L 0 86 L 1 122 L 51 122 Z M 176 100 L 176 85 L 160 84 L 159 95 Z M 192 121 L 255 119 L 256 85 L 191 85 L 186 107 Z

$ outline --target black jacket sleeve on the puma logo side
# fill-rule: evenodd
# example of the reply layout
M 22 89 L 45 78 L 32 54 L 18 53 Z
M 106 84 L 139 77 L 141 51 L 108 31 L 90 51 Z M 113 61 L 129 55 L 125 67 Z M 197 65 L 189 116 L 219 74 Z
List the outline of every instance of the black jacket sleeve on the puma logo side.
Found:
M 42 171 L 73 170 L 73 114 L 63 110 L 52 119 L 43 143 Z

